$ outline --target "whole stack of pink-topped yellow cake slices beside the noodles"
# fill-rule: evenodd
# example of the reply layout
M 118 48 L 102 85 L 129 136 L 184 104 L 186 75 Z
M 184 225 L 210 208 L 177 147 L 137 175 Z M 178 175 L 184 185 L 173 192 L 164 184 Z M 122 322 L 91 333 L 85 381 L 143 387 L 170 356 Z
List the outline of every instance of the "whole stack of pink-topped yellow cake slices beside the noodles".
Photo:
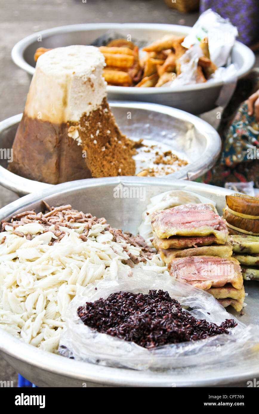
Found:
M 206 290 L 222 303 L 242 310 L 244 286 L 239 262 L 232 258 L 224 220 L 210 204 L 189 204 L 154 212 L 153 245 L 171 276 Z

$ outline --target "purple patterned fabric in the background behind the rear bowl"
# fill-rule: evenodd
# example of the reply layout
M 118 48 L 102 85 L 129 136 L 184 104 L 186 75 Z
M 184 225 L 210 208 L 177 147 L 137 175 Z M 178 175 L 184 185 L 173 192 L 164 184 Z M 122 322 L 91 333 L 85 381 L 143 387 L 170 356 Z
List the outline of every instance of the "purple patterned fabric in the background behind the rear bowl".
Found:
M 250 46 L 259 41 L 259 0 L 200 0 L 200 12 L 208 9 L 228 17 L 242 43 Z

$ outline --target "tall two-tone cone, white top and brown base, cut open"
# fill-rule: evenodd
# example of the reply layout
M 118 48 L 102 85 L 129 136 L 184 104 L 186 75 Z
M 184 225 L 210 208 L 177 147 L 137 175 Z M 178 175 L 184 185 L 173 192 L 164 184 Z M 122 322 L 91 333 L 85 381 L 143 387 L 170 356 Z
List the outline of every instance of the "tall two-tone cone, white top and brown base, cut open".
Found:
M 134 143 L 110 112 L 104 65 L 93 46 L 56 48 L 39 57 L 10 171 L 49 184 L 134 175 Z

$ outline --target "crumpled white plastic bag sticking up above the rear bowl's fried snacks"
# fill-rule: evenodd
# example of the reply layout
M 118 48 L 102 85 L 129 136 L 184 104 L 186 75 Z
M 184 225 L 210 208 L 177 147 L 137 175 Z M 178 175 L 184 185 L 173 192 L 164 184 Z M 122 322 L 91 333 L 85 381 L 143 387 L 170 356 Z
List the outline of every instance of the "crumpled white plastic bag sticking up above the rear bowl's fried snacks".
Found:
M 200 15 L 182 45 L 190 48 L 207 37 L 210 59 L 220 67 L 227 63 L 237 35 L 237 28 L 228 19 L 209 9 Z

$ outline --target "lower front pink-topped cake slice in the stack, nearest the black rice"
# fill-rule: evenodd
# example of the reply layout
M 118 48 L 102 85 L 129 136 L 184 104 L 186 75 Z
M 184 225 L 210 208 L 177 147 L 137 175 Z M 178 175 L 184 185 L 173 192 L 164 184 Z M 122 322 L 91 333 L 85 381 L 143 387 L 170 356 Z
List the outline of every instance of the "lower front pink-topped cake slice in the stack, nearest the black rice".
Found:
M 242 289 L 243 286 L 241 267 L 234 258 L 190 256 L 173 259 L 169 268 L 172 277 L 203 290 L 222 287 L 227 283 L 235 289 Z

